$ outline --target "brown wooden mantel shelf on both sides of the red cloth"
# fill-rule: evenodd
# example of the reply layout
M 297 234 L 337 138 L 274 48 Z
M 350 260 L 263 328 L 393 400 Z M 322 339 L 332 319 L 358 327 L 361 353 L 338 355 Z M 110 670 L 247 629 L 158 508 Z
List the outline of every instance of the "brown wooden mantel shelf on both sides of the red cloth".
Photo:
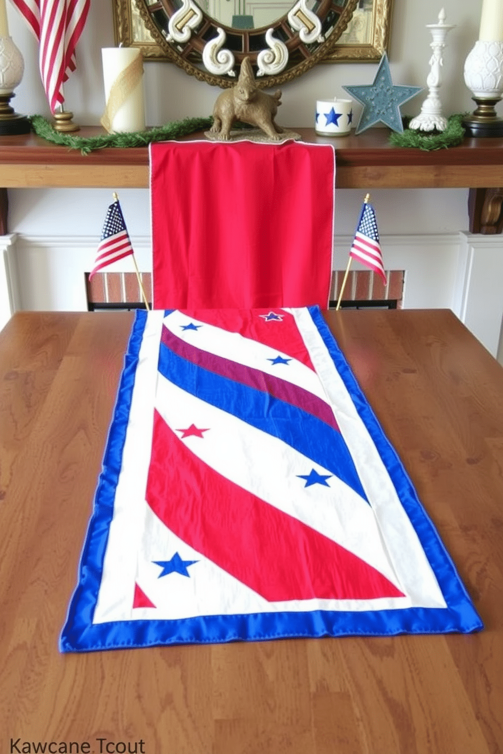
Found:
M 336 147 L 336 186 L 339 189 L 470 189 L 469 227 L 472 233 L 501 233 L 503 228 L 503 139 L 465 139 L 457 147 L 423 152 L 388 143 L 386 128 L 360 136 L 317 136 L 312 128 L 297 128 L 310 143 Z M 83 127 L 78 135 L 97 136 L 100 127 Z M 202 133 L 190 139 L 204 138 Z M 34 134 L 0 136 L 0 234 L 8 232 L 11 188 L 144 189 L 149 185 L 146 147 L 101 149 L 83 156 L 44 141 Z

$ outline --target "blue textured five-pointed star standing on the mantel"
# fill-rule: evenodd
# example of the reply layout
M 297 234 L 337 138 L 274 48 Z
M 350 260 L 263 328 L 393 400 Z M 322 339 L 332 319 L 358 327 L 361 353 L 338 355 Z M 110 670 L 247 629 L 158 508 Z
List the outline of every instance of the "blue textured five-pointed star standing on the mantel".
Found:
M 391 81 L 388 56 L 382 56 L 373 84 L 360 87 L 342 87 L 363 105 L 355 134 L 376 123 L 384 123 L 391 130 L 403 132 L 400 105 L 412 100 L 423 87 L 394 86 Z

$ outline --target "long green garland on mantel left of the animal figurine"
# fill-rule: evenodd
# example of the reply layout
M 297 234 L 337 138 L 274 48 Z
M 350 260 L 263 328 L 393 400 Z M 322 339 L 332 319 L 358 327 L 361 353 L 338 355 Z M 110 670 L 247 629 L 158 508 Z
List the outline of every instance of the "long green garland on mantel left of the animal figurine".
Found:
M 30 121 L 32 129 L 42 139 L 67 146 L 69 149 L 80 149 L 83 155 L 88 155 L 94 149 L 105 149 L 108 146 L 124 149 L 130 146 L 146 146 L 151 142 L 177 139 L 179 136 L 187 136 L 189 133 L 209 128 L 213 123 L 213 118 L 185 118 L 183 121 L 172 121 L 165 126 L 136 133 L 104 133 L 103 136 L 91 136 L 88 139 L 72 133 L 60 133 L 42 115 L 32 115 Z

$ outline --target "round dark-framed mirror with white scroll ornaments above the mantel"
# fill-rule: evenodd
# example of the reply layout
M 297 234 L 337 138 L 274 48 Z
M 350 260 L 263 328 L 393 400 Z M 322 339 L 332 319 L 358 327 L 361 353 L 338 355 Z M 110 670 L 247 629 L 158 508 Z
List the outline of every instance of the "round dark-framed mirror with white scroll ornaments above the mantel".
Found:
M 135 0 L 167 57 L 219 87 L 235 84 L 244 57 L 272 87 L 330 53 L 359 0 Z

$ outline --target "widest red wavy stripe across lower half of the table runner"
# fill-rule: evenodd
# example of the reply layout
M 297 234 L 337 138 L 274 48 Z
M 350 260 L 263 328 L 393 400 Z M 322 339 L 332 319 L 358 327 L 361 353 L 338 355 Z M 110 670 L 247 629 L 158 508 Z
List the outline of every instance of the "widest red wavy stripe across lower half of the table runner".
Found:
M 344 547 L 204 464 L 189 448 L 207 441 L 210 430 L 180 440 L 155 412 L 146 500 L 177 537 L 269 602 L 403 596 Z

